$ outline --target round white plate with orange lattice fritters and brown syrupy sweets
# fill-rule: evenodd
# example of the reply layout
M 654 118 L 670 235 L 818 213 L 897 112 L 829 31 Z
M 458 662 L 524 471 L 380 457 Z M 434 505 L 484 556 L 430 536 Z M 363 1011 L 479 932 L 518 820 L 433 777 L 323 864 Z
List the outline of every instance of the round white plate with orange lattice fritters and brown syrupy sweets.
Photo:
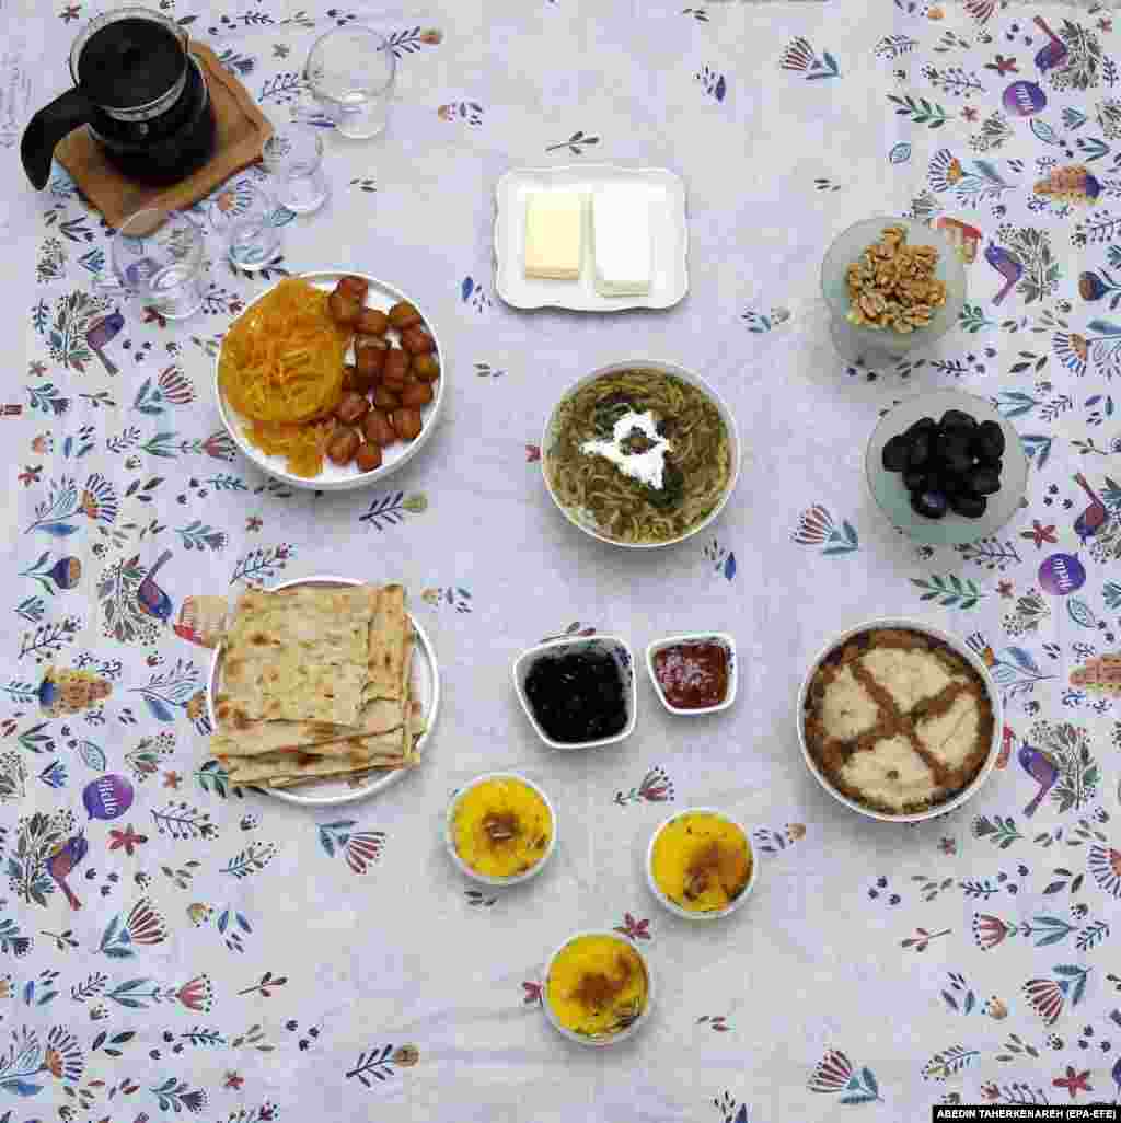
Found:
M 241 454 L 291 487 L 381 483 L 431 438 L 447 356 L 419 304 L 367 273 L 286 277 L 230 325 L 218 412 Z

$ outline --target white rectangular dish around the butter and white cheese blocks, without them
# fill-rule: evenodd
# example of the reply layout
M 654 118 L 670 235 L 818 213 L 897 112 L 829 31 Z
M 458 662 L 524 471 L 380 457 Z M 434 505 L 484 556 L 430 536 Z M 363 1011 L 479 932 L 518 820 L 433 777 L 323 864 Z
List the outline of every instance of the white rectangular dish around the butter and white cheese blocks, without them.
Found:
M 618 298 L 600 296 L 598 300 L 582 300 L 578 303 L 571 300 L 519 300 L 502 282 L 502 235 L 505 232 L 507 223 L 512 219 L 505 214 L 503 199 L 509 191 L 511 183 L 523 176 L 543 176 L 544 179 L 556 179 L 557 176 L 580 172 L 582 175 L 590 173 L 585 177 L 594 179 L 596 173 L 607 175 L 630 176 L 635 179 L 657 180 L 666 182 L 672 188 L 675 195 L 681 198 L 681 258 L 676 263 L 675 273 L 680 282 L 674 286 L 673 293 L 666 300 L 650 300 L 648 298 Z M 685 181 L 668 167 L 627 167 L 622 164 L 555 164 L 546 167 L 512 167 L 499 176 L 494 184 L 494 227 L 492 238 L 492 254 L 494 264 L 494 291 L 503 303 L 522 311 L 534 311 L 539 308 L 559 308 L 572 312 L 625 312 L 636 308 L 650 308 L 665 310 L 680 304 L 689 294 L 689 192 Z

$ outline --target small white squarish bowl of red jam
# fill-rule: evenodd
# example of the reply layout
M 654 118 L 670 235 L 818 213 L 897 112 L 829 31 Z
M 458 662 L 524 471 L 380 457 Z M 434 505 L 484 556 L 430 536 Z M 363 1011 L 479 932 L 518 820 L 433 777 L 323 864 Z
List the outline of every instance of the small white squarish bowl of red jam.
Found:
M 719 713 L 736 701 L 736 641 L 726 632 L 690 632 L 655 640 L 646 649 L 646 669 L 671 713 Z

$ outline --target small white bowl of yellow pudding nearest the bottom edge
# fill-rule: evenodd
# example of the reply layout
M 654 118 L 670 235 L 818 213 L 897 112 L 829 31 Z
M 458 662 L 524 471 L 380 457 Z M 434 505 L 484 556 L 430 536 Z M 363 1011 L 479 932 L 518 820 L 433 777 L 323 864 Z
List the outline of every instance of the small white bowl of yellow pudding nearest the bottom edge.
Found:
M 617 932 L 576 932 L 549 957 L 545 1016 L 569 1041 L 613 1046 L 634 1037 L 654 1004 L 645 957 Z

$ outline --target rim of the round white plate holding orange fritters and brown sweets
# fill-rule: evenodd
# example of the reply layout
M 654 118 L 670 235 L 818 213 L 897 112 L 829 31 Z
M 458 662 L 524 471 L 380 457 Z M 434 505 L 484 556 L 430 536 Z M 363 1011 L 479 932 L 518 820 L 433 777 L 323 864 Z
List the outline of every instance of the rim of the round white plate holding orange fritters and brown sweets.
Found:
M 395 298 L 395 301 L 408 301 L 413 308 L 417 309 L 421 319 L 425 321 L 425 326 L 428 328 L 428 331 L 432 337 L 432 343 L 436 345 L 436 354 L 440 360 L 440 376 L 436 380 L 436 396 L 432 399 L 429 413 L 425 418 L 425 426 L 420 430 L 420 436 L 417 437 L 416 440 L 409 442 L 401 456 L 394 459 L 391 464 L 383 464 L 380 468 L 375 468 L 373 472 L 362 472 L 357 475 L 344 476 L 335 480 L 323 478 L 321 476 L 315 476 L 309 480 L 304 476 L 293 475 L 291 472 L 286 472 L 284 468 L 281 468 L 276 464 L 272 463 L 273 460 L 280 462 L 282 458 L 279 456 L 265 456 L 264 453 L 254 448 L 248 440 L 246 440 L 241 433 L 237 431 L 237 426 L 234 424 L 231 418 L 234 416 L 239 417 L 239 414 L 236 414 L 236 411 L 231 405 L 227 407 L 226 399 L 222 394 L 221 385 L 218 380 L 218 364 L 221 358 L 221 346 L 219 346 L 218 353 L 215 355 L 211 389 L 213 390 L 215 403 L 218 408 L 218 416 L 221 418 L 222 428 L 233 438 L 234 442 L 237 445 L 238 451 L 250 464 L 273 478 L 280 480 L 290 487 L 298 487 L 301 491 L 356 491 L 359 487 L 371 487 L 375 484 L 380 484 L 383 480 L 393 475 L 393 473 L 399 468 L 404 467 L 404 465 L 408 464 L 409 460 L 411 460 L 428 444 L 444 408 L 444 386 L 448 377 L 447 351 L 440 344 L 439 336 L 436 334 L 436 327 L 432 323 L 431 318 L 407 292 L 402 292 L 397 287 L 397 285 L 392 285 L 388 281 L 382 281 L 379 277 L 375 277 L 372 273 L 362 273 L 358 270 L 339 267 L 330 270 L 308 270 L 303 273 L 293 273 L 289 277 L 277 277 L 276 281 L 254 296 L 254 299 L 250 300 L 244 309 L 241 309 L 238 318 L 245 316 L 245 313 L 248 312 L 254 304 L 256 304 L 263 296 L 268 295 L 268 293 L 271 293 L 282 281 L 307 281 L 309 284 L 317 284 L 317 282 L 330 282 L 332 280 L 338 281 L 338 279 L 343 276 L 362 277 L 364 281 L 370 283 L 371 289 L 376 287 L 386 296 Z

